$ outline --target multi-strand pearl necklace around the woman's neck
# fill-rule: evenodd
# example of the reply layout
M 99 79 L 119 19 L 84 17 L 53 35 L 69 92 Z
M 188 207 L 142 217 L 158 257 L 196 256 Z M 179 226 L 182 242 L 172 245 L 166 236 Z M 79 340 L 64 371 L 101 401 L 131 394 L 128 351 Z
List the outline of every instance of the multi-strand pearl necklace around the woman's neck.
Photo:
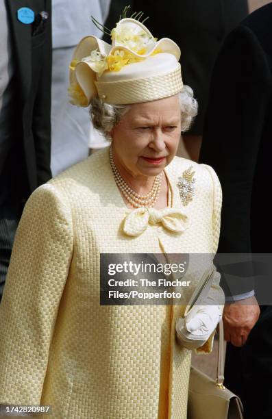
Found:
M 110 166 L 112 168 L 112 173 L 114 175 L 114 180 L 116 185 L 121 190 L 122 194 L 125 196 L 125 199 L 135 208 L 140 207 L 153 207 L 158 199 L 160 193 L 160 187 L 162 185 L 162 173 L 155 177 L 153 186 L 151 190 L 146 195 L 140 195 L 135 190 L 130 188 L 127 182 L 121 177 L 118 168 L 116 168 L 113 156 L 112 148 L 110 147 Z

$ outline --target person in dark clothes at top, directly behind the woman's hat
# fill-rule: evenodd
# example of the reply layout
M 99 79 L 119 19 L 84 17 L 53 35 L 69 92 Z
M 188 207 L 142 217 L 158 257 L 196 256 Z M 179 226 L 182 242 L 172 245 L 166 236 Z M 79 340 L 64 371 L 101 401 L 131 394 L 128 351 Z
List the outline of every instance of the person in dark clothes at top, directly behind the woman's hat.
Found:
M 190 159 L 197 162 L 212 66 L 225 36 L 247 16 L 247 0 L 169 0 L 167 7 L 164 1 L 116 0 L 110 5 L 106 27 L 114 27 L 119 10 L 127 3 L 132 12 L 141 10 L 145 16 L 153 16 L 148 23 L 154 36 L 167 36 L 180 45 L 182 74 L 199 103 L 195 123 L 183 140 Z M 181 154 L 181 148 L 177 153 Z

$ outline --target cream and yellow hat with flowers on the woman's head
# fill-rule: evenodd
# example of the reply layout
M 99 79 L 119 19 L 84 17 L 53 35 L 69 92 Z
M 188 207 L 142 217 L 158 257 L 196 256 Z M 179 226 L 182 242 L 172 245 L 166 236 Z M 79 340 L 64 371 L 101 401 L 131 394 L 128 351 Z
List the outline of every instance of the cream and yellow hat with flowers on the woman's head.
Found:
M 111 31 L 112 45 L 86 36 L 70 66 L 71 103 L 88 106 L 93 97 L 106 103 L 141 103 L 182 90 L 180 48 L 173 40 L 156 40 L 134 18 L 123 18 Z

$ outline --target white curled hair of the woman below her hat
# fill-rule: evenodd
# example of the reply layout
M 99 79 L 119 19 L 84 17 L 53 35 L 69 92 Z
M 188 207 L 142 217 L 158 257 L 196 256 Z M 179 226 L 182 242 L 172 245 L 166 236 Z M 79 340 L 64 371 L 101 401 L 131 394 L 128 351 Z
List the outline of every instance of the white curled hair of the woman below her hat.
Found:
M 179 93 L 180 112 L 182 118 L 181 131 L 186 132 L 193 123 L 197 115 L 197 100 L 193 97 L 193 90 L 190 86 L 183 86 Z M 130 105 L 110 105 L 101 101 L 101 99 L 93 98 L 90 102 L 90 117 L 93 126 L 106 137 L 112 140 L 110 131 L 119 123 L 121 118 L 129 110 Z

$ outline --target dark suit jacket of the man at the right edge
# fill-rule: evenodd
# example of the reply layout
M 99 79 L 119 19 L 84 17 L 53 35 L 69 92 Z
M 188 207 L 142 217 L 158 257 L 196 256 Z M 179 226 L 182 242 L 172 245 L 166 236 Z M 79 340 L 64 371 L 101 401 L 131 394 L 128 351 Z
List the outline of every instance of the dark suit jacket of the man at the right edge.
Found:
M 223 189 L 221 253 L 272 249 L 271 40 L 269 3 L 227 36 L 214 66 L 200 162 Z

